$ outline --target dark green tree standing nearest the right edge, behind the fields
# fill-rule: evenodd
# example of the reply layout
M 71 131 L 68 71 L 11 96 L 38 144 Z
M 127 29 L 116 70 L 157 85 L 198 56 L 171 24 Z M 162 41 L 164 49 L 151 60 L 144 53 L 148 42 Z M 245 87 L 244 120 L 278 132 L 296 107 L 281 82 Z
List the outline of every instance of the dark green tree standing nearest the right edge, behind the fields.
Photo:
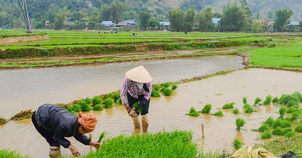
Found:
M 273 24 L 274 29 L 277 30 L 277 32 L 283 32 L 287 21 L 290 19 L 290 17 L 293 15 L 292 11 L 288 11 L 287 9 L 281 9 L 281 10 L 276 10 L 276 20 L 275 23 Z

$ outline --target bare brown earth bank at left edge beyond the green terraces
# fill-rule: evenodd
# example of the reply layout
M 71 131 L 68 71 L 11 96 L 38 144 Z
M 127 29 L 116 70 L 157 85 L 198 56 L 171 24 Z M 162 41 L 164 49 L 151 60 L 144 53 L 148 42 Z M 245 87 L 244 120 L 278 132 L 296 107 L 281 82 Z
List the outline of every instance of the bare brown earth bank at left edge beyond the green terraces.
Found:
M 48 35 L 35 35 L 35 36 L 22 36 L 22 37 L 7 37 L 0 38 L 0 45 L 5 45 L 9 43 L 18 43 L 18 42 L 30 42 L 38 40 L 48 40 Z

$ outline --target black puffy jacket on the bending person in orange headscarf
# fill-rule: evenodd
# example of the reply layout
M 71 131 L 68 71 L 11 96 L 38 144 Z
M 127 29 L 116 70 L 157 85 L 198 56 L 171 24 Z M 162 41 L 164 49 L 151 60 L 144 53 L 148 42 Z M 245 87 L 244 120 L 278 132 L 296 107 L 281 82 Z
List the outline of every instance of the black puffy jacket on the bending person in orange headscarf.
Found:
M 89 137 L 78 132 L 80 123 L 78 116 L 53 104 L 41 105 L 36 111 L 39 127 L 53 131 L 53 140 L 67 148 L 71 143 L 64 137 L 73 136 L 85 145 L 91 141 Z

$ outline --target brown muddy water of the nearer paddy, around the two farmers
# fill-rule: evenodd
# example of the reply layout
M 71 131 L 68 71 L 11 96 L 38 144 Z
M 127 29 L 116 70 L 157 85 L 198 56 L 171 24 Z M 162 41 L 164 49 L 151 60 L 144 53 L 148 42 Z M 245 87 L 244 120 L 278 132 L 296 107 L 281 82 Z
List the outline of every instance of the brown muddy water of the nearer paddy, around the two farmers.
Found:
M 187 116 L 186 113 L 192 106 L 196 110 L 201 110 L 206 103 L 212 104 L 211 113 L 214 113 L 218 111 L 217 108 L 227 102 L 236 102 L 235 107 L 243 111 L 243 97 L 247 97 L 248 103 L 253 104 L 256 97 L 264 100 L 267 95 L 280 97 L 282 94 L 292 94 L 295 91 L 302 93 L 301 78 L 302 73 L 249 69 L 179 84 L 173 96 L 152 98 L 148 131 L 156 133 L 163 131 L 163 128 L 166 131 L 192 130 L 194 141 L 199 143 L 200 149 L 204 151 L 221 150 L 223 147 L 232 151 L 233 148 L 230 145 L 235 136 L 240 138 L 245 145 L 261 142 L 263 140 L 257 140 L 259 133 L 253 132 L 251 129 L 258 128 L 261 122 L 269 116 L 278 117 L 279 108 L 273 104 L 260 106 L 258 112 L 251 114 L 235 115 L 231 110 L 223 110 L 223 117 L 210 114 L 192 117 Z M 109 133 L 106 135 L 107 137 L 122 133 L 132 134 L 132 120 L 122 105 L 103 111 L 93 111 L 93 113 L 99 120 L 96 130 L 92 132 L 94 140 L 97 140 L 103 131 Z M 236 131 L 235 119 L 237 117 L 243 117 L 247 121 L 241 131 Z M 201 138 L 201 123 L 204 124 L 204 139 Z M 31 157 L 47 157 L 48 155 L 48 145 L 35 130 L 30 119 L 10 121 L 8 124 L 0 126 L 0 133 L 5 135 L 0 137 L 1 149 L 17 149 Z M 82 154 L 90 151 L 89 146 L 85 146 L 73 138 L 68 139 Z M 62 148 L 61 152 L 70 155 L 69 149 Z

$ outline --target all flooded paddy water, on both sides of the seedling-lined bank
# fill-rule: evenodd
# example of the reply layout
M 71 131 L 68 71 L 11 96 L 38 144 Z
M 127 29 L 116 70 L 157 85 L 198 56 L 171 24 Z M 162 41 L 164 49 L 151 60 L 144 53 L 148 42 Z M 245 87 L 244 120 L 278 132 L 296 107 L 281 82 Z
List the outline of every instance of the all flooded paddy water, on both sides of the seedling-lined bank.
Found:
M 229 60 L 229 58 L 233 59 Z M 219 59 L 221 60 L 219 61 Z M 154 83 L 157 83 L 190 79 L 194 76 L 212 74 L 222 70 L 239 69 L 243 67 L 241 62 L 242 58 L 240 57 L 215 57 L 215 59 L 198 58 L 120 63 L 117 64 L 118 68 L 116 69 L 113 69 L 113 65 L 107 64 L 97 66 L 102 68 L 86 66 L 58 68 L 59 70 L 50 68 L 0 71 L 1 81 L 6 79 L 5 81 L 11 84 L 10 87 L 1 85 L 1 88 L 11 89 L 7 93 L 1 92 L 1 98 L 3 96 L 6 98 L 0 101 L 1 115 L 7 118 L 22 109 L 32 108 L 34 110 L 46 102 L 69 103 L 72 100 L 118 90 L 124 78 L 124 72 L 138 65 L 144 65 L 153 75 Z M 97 70 L 92 71 L 92 69 Z M 106 73 L 104 70 L 106 70 Z M 30 73 L 31 71 L 34 72 Z M 55 73 L 52 73 L 52 71 L 55 71 Z M 109 72 L 116 73 L 107 74 Z M 16 77 L 5 78 L 3 77 L 4 74 L 11 74 L 11 77 Z M 29 74 L 35 75 L 28 77 Z M 32 80 L 33 83 L 29 80 Z M 56 80 L 57 82 L 55 82 Z M 65 84 L 60 84 L 62 81 Z M 247 97 L 248 103 L 252 105 L 256 97 L 265 100 L 267 95 L 280 97 L 282 94 L 292 94 L 295 91 L 302 93 L 301 81 L 302 73 L 247 69 L 200 81 L 182 83 L 178 85 L 173 96 L 152 98 L 149 108 L 148 132 L 156 133 L 163 131 L 163 128 L 165 128 L 165 131 L 192 130 L 194 132 L 193 140 L 204 151 L 221 151 L 222 148 L 232 151 L 233 147 L 231 145 L 234 137 L 240 138 L 245 145 L 253 145 L 265 140 L 258 140 L 259 133 L 251 131 L 251 129 L 259 128 L 261 122 L 269 116 L 277 118 L 279 108 L 274 104 L 259 106 L 257 112 L 245 114 L 243 112 L 243 97 Z M 38 84 L 40 82 L 45 86 L 41 87 Z M 23 87 L 33 90 L 27 92 L 23 90 Z M 192 106 L 199 111 L 205 104 L 210 103 L 213 107 L 211 113 L 214 113 L 225 103 L 230 102 L 236 103 L 235 107 L 239 108 L 241 114 L 233 114 L 232 110 L 223 109 L 223 117 L 210 114 L 201 114 L 198 117 L 186 115 Z M 3 109 L 6 111 L 4 112 Z M 92 112 L 99 120 L 96 129 L 92 132 L 93 140 L 97 140 L 99 134 L 103 131 L 109 133 L 106 137 L 113 137 L 122 133 L 132 134 L 132 119 L 126 114 L 126 110 L 122 105 Z M 247 122 L 240 131 L 236 131 L 235 119 L 237 117 L 242 117 Z M 204 124 L 204 139 L 202 139 L 201 123 Z M 48 143 L 35 130 L 30 119 L 9 121 L 5 125 L 0 125 L 0 134 L 2 135 L 0 149 L 16 149 L 31 157 L 48 157 Z M 68 138 L 68 140 L 82 154 L 87 154 L 90 151 L 89 146 L 81 144 L 74 138 Z M 61 153 L 70 155 L 71 152 L 69 149 L 61 148 Z

